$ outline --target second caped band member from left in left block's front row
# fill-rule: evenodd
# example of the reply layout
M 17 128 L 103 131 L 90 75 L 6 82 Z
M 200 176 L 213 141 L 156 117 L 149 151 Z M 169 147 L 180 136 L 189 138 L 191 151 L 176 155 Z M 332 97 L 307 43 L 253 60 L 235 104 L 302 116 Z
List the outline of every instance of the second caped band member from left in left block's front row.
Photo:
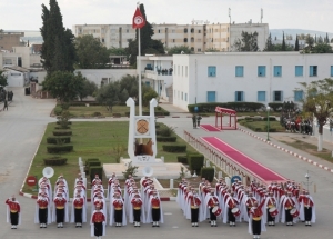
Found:
M 53 203 L 52 221 L 57 221 L 58 228 L 63 228 L 63 222 L 69 221 L 67 200 L 62 197 L 62 193 L 57 193 Z

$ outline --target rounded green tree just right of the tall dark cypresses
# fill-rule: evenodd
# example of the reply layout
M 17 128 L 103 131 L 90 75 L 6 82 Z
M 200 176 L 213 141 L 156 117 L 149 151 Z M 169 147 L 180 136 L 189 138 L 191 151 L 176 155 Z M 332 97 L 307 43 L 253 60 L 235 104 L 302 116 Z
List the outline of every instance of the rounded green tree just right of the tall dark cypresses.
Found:
M 105 69 L 110 63 L 108 49 L 93 38 L 92 34 L 80 36 L 75 39 L 78 68 Z

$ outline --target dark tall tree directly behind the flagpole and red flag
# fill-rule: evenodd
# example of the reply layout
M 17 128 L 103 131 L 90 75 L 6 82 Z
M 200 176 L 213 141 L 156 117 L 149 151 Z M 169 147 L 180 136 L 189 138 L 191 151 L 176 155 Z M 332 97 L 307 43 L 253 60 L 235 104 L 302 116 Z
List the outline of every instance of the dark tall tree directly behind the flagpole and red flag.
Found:
M 145 19 L 145 24 L 140 29 L 140 43 L 141 43 L 141 56 L 147 53 L 164 53 L 163 43 L 159 40 L 153 40 L 152 36 L 154 34 L 153 28 L 151 23 L 147 20 L 144 6 L 140 4 L 140 11 Z M 130 64 L 134 64 L 137 62 L 138 57 L 138 38 L 139 38 L 139 29 L 135 30 L 135 39 L 129 40 L 129 47 L 127 48 L 128 54 L 130 56 Z

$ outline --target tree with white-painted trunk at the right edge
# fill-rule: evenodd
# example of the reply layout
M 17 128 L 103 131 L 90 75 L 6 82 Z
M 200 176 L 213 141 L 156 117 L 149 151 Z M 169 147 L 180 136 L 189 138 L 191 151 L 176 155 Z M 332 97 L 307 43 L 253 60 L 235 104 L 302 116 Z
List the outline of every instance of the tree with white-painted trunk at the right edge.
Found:
M 307 116 L 314 116 L 319 125 L 317 151 L 323 150 L 323 127 L 333 112 L 333 80 L 325 78 L 323 80 L 302 82 L 304 89 L 303 112 Z

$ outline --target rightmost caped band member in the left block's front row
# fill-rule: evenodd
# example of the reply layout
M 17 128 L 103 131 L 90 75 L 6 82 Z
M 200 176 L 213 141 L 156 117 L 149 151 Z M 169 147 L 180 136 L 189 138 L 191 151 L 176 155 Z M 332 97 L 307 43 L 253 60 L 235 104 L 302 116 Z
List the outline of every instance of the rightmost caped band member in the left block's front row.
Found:
M 161 199 L 157 191 L 150 196 L 149 207 L 147 212 L 147 222 L 152 222 L 152 227 L 160 227 L 159 222 L 163 223 L 163 210 L 161 205 Z

